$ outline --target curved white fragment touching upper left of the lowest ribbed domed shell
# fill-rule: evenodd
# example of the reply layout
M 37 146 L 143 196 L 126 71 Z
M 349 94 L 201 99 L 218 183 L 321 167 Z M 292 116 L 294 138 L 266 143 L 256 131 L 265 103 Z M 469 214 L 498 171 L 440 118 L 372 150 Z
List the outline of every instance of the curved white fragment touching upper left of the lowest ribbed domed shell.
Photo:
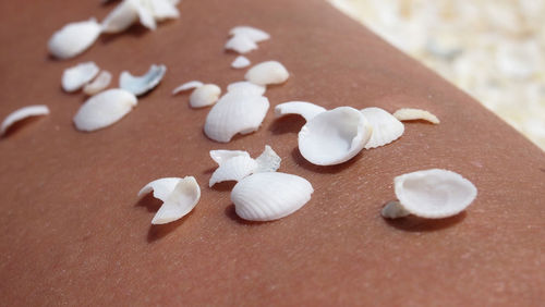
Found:
M 255 172 L 257 162 L 246 156 L 233 157 L 221 164 L 211 174 L 208 186 L 213 186 L 218 182 L 223 181 L 240 181 L 243 177 Z

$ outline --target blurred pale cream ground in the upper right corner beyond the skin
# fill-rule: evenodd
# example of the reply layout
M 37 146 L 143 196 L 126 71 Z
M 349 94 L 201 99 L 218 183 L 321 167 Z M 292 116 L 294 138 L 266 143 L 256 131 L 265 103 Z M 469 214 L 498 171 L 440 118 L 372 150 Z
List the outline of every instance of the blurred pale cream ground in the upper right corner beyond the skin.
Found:
M 545 149 L 545 0 L 329 0 Z

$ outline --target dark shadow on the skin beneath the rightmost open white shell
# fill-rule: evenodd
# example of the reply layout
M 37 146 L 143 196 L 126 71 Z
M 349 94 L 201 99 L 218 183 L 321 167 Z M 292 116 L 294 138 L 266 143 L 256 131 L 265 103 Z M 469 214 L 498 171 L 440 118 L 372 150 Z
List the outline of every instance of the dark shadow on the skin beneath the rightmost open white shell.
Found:
M 431 232 L 451 228 L 465 219 L 465 211 L 445 219 L 424 219 L 408 216 L 399 219 L 385 219 L 389 225 L 408 232 Z

